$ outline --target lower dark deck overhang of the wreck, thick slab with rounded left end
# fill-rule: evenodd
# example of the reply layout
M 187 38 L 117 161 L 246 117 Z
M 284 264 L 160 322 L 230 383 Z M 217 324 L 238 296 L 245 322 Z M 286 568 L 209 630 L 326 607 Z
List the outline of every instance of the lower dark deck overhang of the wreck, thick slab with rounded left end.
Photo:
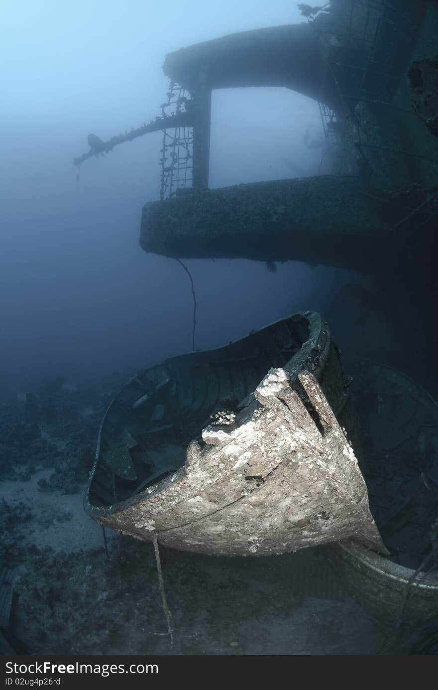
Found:
M 151 201 L 140 244 L 179 259 L 295 260 L 379 272 L 398 253 L 395 222 L 392 207 L 364 195 L 358 177 L 322 175 Z

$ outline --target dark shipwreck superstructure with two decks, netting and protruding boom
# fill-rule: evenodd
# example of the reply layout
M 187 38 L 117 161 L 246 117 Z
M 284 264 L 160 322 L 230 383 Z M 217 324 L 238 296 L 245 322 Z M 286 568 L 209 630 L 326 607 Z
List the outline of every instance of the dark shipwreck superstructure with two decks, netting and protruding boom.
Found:
M 374 273 L 403 272 L 412 246 L 417 263 L 436 249 L 437 3 L 332 0 L 306 14 L 170 53 L 161 116 L 110 141 L 90 135 L 76 164 L 163 130 L 161 200 L 143 208 L 143 249 Z M 212 91 L 248 86 L 319 103 L 332 174 L 208 189 Z

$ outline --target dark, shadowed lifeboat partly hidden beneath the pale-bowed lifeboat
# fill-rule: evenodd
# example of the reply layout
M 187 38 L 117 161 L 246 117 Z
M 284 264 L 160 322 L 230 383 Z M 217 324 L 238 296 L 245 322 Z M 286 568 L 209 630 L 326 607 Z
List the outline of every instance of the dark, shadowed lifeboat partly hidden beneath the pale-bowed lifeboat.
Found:
M 380 476 L 385 477 L 388 460 L 386 463 L 384 461 L 391 454 L 399 458 L 401 467 L 406 462 L 404 458 L 410 457 L 413 473 L 409 476 L 413 475 L 413 481 L 418 482 L 419 489 L 416 491 L 424 488 L 429 493 L 430 487 L 438 483 L 437 402 L 415 381 L 384 364 L 368 362 L 358 379 L 361 411 L 357 417 L 362 427 L 361 435 L 368 442 L 368 452 L 371 444 L 379 451 Z M 357 453 L 361 453 L 359 445 Z M 421 468 L 424 471 L 420 474 Z M 397 493 L 402 497 L 406 495 L 402 486 L 399 486 Z M 410 540 L 406 524 L 412 514 L 410 502 L 413 496 L 414 491 L 406 495 L 405 506 L 401 502 L 399 515 L 406 517 L 398 524 L 393 522 L 393 531 L 396 535 L 397 532 L 402 535 L 400 543 L 405 546 L 409 545 Z M 388 492 L 388 502 L 390 500 Z M 426 504 L 426 501 L 421 500 L 421 504 Z M 430 527 L 430 546 L 421 556 L 424 558 L 423 566 L 418 569 L 394 562 L 352 540 L 325 547 L 326 555 L 350 593 L 368 613 L 392 629 L 395 629 L 395 624 L 408 627 L 438 615 L 438 573 L 436 565 L 433 567 L 436 555 L 434 560 L 431 558 L 435 551 L 433 544 L 438 526 L 436 507 L 434 515 L 435 526 Z M 430 517 L 430 520 L 433 518 Z M 420 524 L 411 529 L 418 546 L 422 545 L 421 548 L 425 549 L 427 541 L 419 530 Z M 390 547 L 384 526 L 381 529 Z

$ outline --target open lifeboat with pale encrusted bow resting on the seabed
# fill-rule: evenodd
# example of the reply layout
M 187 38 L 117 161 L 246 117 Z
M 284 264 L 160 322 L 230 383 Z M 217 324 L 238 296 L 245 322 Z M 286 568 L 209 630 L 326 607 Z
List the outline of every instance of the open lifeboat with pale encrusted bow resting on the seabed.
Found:
M 86 494 L 102 526 L 183 551 L 385 551 L 336 415 L 339 351 L 304 312 L 140 371 L 103 418 Z

